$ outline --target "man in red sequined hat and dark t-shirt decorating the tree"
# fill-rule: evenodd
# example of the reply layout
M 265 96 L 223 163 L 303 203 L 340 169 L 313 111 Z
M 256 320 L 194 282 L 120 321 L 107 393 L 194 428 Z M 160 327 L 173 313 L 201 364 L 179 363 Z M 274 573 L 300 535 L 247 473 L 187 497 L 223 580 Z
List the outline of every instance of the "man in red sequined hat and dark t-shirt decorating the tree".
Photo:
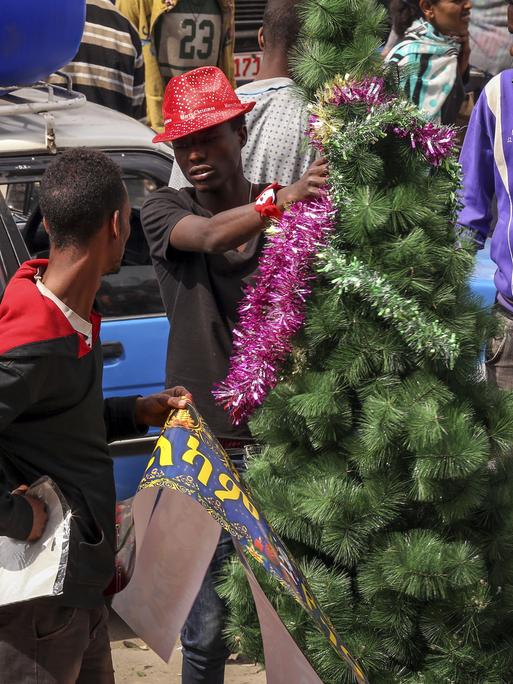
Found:
M 212 397 L 228 371 L 232 330 L 243 288 L 258 268 L 264 230 L 285 205 L 317 197 L 326 181 L 324 159 L 293 185 L 253 185 L 241 149 L 247 139 L 242 104 L 223 72 L 202 67 L 171 79 L 164 97 L 164 132 L 192 187 L 160 188 L 142 208 L 143 228 L 169 318 L 166 381 L 187 386 L 205 420 L 243 468 L 252 444 L 247 425 L 232 425 Z M 265 335 L 265 330 L 262 330 Z M 214 585 L 232 551 L 223 533 L 182 631 L 183 684 L 222 684 L 228 649 L 225 605 Z

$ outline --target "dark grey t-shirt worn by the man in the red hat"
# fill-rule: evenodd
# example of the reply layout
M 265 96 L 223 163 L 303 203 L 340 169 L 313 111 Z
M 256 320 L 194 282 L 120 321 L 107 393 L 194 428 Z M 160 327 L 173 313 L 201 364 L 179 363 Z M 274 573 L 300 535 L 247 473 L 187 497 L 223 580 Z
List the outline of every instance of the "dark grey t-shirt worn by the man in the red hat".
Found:
M 217 437 L 249 439 L 247 425 L 232 425 L 228 414 L 216 405 L 212 389 L 228 372 L 238 305 L 245 284 L 258 267 L 264 236 L 252 238 L 241 252 L 232 249 L 206 254 L 173 249 L 171 231 L 190 214 L 211 216 L 195 201 L 193 188 L 160 188 L 141 210 L 171 328 L 166 385 L 183 385 L 192 393 Z

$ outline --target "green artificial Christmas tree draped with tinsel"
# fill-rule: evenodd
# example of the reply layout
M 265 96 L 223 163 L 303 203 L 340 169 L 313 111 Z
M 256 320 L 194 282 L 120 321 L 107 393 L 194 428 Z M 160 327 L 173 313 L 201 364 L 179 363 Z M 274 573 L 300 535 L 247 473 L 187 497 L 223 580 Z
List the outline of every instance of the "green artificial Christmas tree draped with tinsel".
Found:
M 251 423 L 266 446 L 247 480 L 373 684 L 512 682 L 513 399 L 478 365 L 493 323 L 469 294 L 473 247 L 454 226 L 453 135 L 398 94 L 376 54 L 383 14 L 373 0 L 306 0 L 302 16 L 295 73 L 312 103 L 310 137 L 330 162 L 329 198 L 317 206 L 326 230 L 310 255 L 305 325 Z M 313 220 L 308 207 L 296 219 Z M 304 276 L 280 263 L 277 278 Z M 263 275 L 272 280 L 272 268 Z M 274 300 L 265 288 L 251 300 L 277 335 L 301 320 L 292 300 L 279 311 L 287 282 Z M 267 329 L 252 339 L 242 314 L 240 353 L 249 341 L 258 361 L 273 351 Z M 269 369 L 276 375 L 287 344 L 273 349 L 243 388 L 246 404 L 231 402 L 235 416 L 261 398 Z M 237 359 L 231 378 L 232 390 L 248 381 Z M 228 386 L 217 394 L 230 403 Z M 261 580 L 322 680 L 352 681 L 294 600 Z M 236 563 L 220 590 L 229 634 L 258 659 Z

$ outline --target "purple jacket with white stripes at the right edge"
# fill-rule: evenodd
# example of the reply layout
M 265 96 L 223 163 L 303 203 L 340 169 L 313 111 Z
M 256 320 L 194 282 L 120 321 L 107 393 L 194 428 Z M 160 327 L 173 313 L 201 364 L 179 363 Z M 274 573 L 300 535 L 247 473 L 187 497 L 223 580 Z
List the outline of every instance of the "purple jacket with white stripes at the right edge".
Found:
M 458 223 L 479 247 L 490 233 L 493 200 L 498 219 L 490 255 L 497 264 L 497 299 L 513 311 L 513 69 L 492 78 L 477 101 L 460 157 L 463 209 Z

